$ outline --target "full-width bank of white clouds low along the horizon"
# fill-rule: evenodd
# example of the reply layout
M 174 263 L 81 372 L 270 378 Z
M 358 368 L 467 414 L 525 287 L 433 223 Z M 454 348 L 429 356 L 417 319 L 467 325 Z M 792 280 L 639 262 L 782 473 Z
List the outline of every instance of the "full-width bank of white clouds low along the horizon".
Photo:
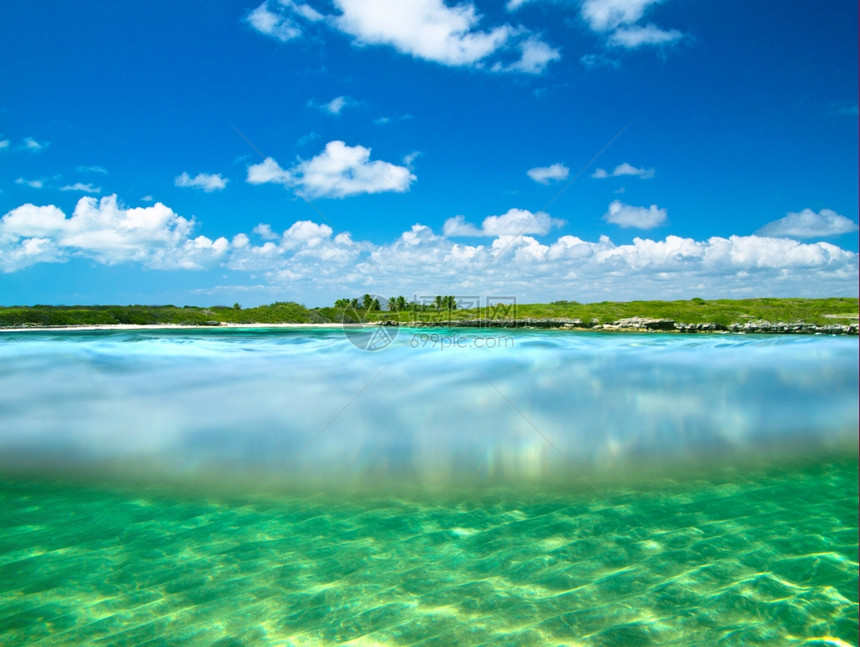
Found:
M 269 293 L 288 289 L 308 305 L 344 294 L 506 294 L 525 300 L 691 298 L 691 296 L 820 296 L 856 292 L 858 255 L 825 243 L 766 236 L 694 240 L 563 235 L 541 243 L 516 236 L 527 211 L 512 209 L 481 229 L 452 219 L 460 230 L 494 235 L 491 242 L 452 240 L 457 227 L 435 234 L 413 225 L 388 244 L 353 240 L 325 224 L 293 223 L 283 234 L 255 228 L 232 241 L 192 237 L 194 223 L 163 204 L 127 209 L 115 196 L 82 198 L 72 217 L 59 208 L 22 205 L 0 218 L 0 270 L 84 257 L 101 263 L 142 263 L 160 269 L 221 264 L 223 272 L 253 273 Z M 451 221 L 449 221 L 451 222 Z M 546 221 L 541 227 L 548 231 Z M 495 233 L 491 234 L 493 231 Z M 531 231 L 530 229 L 527 231 Z M 258 239 L 259 240 L 259 239 Z M 495 261 L 495 262 L 494 262 Z

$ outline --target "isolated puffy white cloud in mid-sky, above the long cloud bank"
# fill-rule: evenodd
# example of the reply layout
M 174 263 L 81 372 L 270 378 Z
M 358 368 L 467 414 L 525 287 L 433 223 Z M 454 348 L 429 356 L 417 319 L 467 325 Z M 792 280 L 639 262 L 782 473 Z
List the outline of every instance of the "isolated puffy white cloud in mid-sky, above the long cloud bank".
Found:
M 310 197 L 345 198 L 409 189 L 416 177 L 404 166 L 370 159 L 370 149 L 331 141 L 317 156 L 284 171 L 272 158 L 248 167 L 248 182 L 295 184 Z

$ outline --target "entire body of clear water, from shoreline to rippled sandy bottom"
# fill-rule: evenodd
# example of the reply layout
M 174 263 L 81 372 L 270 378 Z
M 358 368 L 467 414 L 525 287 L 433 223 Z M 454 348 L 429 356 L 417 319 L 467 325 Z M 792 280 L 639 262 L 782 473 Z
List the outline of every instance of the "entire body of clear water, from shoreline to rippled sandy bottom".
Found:
M 856 338 L 421 334 L 4 333 L 0 643 L 857 645 Z

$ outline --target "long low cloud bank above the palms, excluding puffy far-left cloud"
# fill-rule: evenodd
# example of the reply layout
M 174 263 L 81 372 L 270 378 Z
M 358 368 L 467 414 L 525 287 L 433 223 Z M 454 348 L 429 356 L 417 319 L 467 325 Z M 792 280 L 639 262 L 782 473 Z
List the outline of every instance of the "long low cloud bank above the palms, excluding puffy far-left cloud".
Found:
M 464 226 L 460 219 L 461 231 Z M 598 301 L 698 294 L 814 296 L 851 294 L 857 281 L 856 253 L 827 243 L 760 236 L 637 237 L 615 245 L 606 236 L 586 241 L 565 235 L 544 244 L 533 236 L 505 233 L 488 244 L 464 245 L 452 239 L 454 225 L 439 235 L 416 224 L 394 242 L 378 245 L 333 235 L 309 221 L 294 227 L 289 236 L 294 244 L 285 244 L 285 233 L 232 250 L 228 267 L 262 273 L 267 285 L 289 286 L 297 298 L 315 304 L 368 289 Z M 303 240 L 296 244 L 298 239 Z

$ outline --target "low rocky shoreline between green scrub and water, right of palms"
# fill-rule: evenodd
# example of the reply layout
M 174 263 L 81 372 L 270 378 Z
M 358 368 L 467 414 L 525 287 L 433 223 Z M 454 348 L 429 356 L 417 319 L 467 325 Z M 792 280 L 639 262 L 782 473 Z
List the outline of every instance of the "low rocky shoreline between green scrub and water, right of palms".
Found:
M 683 323 L 674 319 L 631 317 L 601 324 L 581 319 L 452 319 L 450 321 L 377 321 L 383 326 L 409 328 L 545 328 L 552 330 L 592 330 L 608 332 L 677 332 L 677 333 L 760 333 L 793 335 L 857 335 L 858 323 L 817 324 L 795 322 L 748 321 L 729 325 L 719 323 Z

